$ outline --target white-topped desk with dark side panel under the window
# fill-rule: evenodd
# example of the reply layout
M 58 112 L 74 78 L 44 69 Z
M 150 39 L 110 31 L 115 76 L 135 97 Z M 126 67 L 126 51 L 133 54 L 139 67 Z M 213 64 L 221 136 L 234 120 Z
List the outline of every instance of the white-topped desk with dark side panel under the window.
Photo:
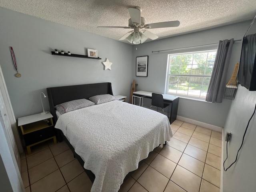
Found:
M 164 98 L 164 102 L 170 102 L 171 103 L 171 112 L 170 112 L 170 124 L 172 124 L 172 122 L 174 122 L 176 120 L 177 117 L 177 112 L 178 112 L 178 104 L 179 104 L 179 97 L 178 96 L 174 96 L 174 95 L 168 95 L 168 94 L 162 94 L 163 98 Z M 152 92 L 148 92 L 148 91 L 136 91 L 133 92 L 133 96 L 139 97 L 141 96 L 141 98 L 145 97 L 145 98 L 152 98 Z M 140 101 L 142 106 L 142 102 Z M 133 104 L 133 103 L 132 103 Z

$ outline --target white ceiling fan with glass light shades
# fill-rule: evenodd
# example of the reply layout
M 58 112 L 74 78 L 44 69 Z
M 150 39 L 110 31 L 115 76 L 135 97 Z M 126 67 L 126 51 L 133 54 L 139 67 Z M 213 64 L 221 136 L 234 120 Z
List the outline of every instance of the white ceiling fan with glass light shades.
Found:
M 130 14 L 130 19 L 128 21 L 128 27 L 122 26 L 98 26 L 99 28 L 123 28 L 123 29 L 133 29 L 122 36 L 119 40 L 128 40 L 128 42 L 133 44 L 140 44 L 145 42 L 148 38 L 155 40 L 158 38 L 152 32 L 147 29 L 155 28 L 166 28 L 166 27 L 178 27 L 180 25 L 179 21 L 167 21 L 159 23 L 146 24 L 146 19 L 140 16 L 140 7 L 128 8 Z

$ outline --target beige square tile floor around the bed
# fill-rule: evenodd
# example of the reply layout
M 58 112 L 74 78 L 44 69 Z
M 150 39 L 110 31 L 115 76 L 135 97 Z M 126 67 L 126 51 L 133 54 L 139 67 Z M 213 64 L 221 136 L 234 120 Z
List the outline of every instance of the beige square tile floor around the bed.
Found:
M 219 192 L 222 134 L 176 120 L 174 136 L 150 156 L 120 192 Z M 92 182 L 65 142 L 44 142 L 21 155 L 26 192 L 90 192 Z

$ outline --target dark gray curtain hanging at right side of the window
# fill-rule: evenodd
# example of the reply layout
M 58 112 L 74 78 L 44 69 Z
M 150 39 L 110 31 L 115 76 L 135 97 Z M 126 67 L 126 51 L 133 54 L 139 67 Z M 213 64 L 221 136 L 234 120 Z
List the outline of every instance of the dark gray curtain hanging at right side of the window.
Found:
M 206 101 L 222 103 L 234 39 L 219 42 Z

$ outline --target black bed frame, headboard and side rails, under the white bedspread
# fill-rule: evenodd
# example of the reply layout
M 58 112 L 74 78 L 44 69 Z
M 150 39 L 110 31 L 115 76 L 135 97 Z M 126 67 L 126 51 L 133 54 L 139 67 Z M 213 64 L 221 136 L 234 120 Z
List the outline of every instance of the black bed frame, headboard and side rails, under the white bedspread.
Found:
M 91 96 L 94 95 L 100 95 L 100 94 L 111 94 L 112 92 L 112 86 L 110 82 L 106 83 L 96 83 L 96 84 L 83 84 L 83 85 L 74 85 L 74 86 L 62 86 L 62 87 L 50 87 L 47 88 L 47 94 L 48 94 L 48 100 L 50 105 L 50 112 L 54 119 L 54 125 L 57 121 L 57 116 L 55 112 L 54 106 L 57 104 L 61 104 L 64 102 L 68 102 L 71 100 L 76 99 L 88 99 Z M 75 152 L 73 146 L 70 144 L 70 142 L 67 140 L 67 138 L 64 136 L 61 130 L 56 129 L 56 135 L 58 142 L 64 141 L 68 144 L 70 149 L 72 150 L 74 157 L 76 157 L 81 164 L 81 166 L 84 168 L 84 161 L 82 158 Z M 151 152 L 150 152 L 151 153 Z M 144 162 L 144 160 L 140 161 L 139 166 Z M 94 182 L 95 175 L 90 171 L 84 169 L 88 177 L 92 182 Z M 124 178 L 124 181 L 132 174 L 133 172 L 130 172 L 126 175 Z

